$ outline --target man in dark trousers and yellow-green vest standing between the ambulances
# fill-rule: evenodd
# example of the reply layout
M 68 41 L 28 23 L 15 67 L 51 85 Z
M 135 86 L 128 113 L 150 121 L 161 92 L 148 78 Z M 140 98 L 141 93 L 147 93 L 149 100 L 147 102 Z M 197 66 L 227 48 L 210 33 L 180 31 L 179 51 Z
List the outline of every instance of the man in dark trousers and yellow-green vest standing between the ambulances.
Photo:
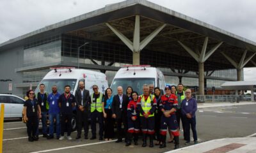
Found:
M 102 110 L 102 99 L 104 94 L 99 92 L 98 85 L 93 85 L 93 94 L 90 96 L 91 103 L 91 128 L 92 128 L 92 138 L 90 140 L 96 139 L 96 122 L 99 122 L 99 140 L 103 140 L 103 110 Z

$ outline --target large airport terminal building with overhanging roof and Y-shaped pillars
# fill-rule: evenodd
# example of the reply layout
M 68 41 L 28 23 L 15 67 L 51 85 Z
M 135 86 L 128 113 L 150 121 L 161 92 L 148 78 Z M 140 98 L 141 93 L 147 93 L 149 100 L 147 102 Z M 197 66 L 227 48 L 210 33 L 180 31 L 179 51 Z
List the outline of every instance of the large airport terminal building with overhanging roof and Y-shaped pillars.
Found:
M 145 0 L 128 0 L 45 26 L 0 44 L 0 93 L 24 96 L 50 71 L 105 73 L 124 65 L 161 69 L 166 83 L 220 89 L 256 66 L 256 43 Z M 227 91 L 220 94 L 229 94 Z

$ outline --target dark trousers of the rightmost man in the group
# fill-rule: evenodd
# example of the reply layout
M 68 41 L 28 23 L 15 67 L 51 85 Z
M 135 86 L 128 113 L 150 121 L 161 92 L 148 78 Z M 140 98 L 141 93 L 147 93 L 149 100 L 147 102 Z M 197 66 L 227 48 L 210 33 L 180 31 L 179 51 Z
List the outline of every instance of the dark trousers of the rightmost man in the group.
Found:
M 184 135 L 185 135 L 185 140 L 187 142 L 190 142 L 190 127 L 193 132 L 193 138 L 194 141 L 197 141 L 197 134 L 196 134 L 196 117 L 192 117 L 191 119 L 188 119 L 187 117 L 183 117 L 184 119 Z

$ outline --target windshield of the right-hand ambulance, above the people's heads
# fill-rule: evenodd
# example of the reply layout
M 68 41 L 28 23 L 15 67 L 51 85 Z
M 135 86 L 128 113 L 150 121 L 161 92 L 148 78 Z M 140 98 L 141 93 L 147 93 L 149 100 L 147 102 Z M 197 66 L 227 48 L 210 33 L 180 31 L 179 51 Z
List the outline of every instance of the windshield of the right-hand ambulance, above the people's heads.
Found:
M 124 89 L 124 94 L 126 94 L 126 88 L 131 86 L 133 91 L 142 94 L 142 89 L 144 84 L 154 84 L 155 78 L 115 78 L 111 84 L 111 89 L 113 90 L 113 95 L 117 94 L 117 87 L 122 86 Z M 155 85 L 156 86 L 156 85 Z

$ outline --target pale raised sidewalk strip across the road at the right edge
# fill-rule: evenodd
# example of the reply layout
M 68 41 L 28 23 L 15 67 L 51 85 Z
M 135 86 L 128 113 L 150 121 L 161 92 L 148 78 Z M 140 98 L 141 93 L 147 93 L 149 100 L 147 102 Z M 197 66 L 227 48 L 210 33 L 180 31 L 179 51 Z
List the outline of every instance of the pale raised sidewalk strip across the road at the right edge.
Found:
M 240 101 L 240 103 L 198 103 L 197 108 L 211 108 L 220 106 L 255 105 L 256 102 Z

